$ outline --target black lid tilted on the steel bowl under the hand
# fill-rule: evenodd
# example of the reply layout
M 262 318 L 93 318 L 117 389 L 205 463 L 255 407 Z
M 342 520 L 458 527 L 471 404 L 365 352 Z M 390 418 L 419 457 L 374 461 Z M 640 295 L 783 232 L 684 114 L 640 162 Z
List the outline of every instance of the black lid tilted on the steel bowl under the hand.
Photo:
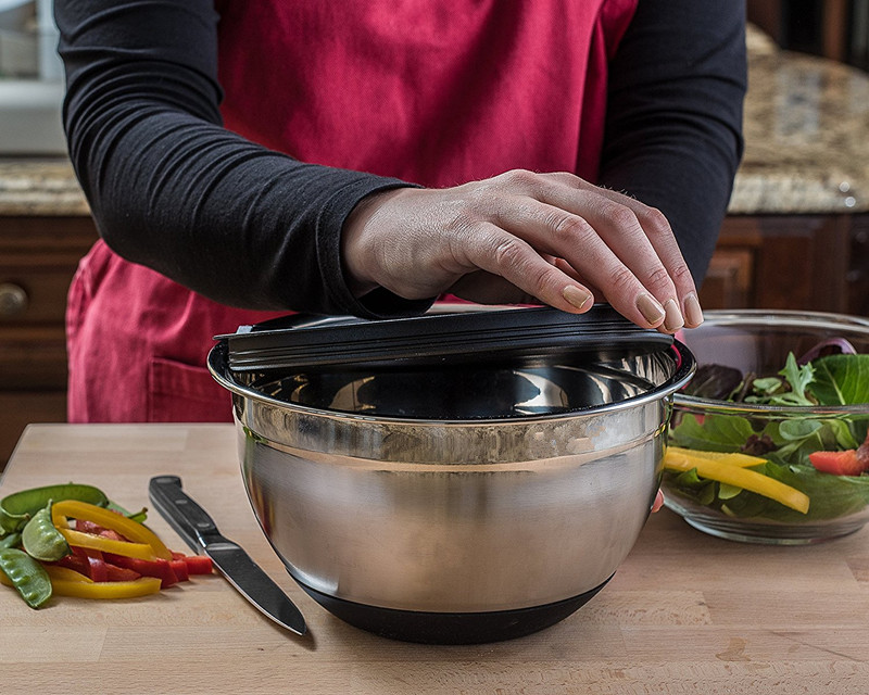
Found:
M 462 311 L 366 320 L 293 314 L 241 326 L 225 341 L 232 371 L 287 371 L 336 365 L 438 366 L 529 361 L 569 353 L 601 362 L 668 349 L 672 336 L 644 329 L 607 304 L 584 314 L 552 307 Z

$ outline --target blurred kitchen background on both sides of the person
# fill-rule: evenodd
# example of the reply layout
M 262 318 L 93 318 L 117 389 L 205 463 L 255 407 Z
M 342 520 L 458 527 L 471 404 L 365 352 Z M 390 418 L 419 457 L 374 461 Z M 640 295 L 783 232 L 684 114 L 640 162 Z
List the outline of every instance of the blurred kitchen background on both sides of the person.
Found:
M 28 422 L 65 419 L 66 288 L 97 238 L 51 2 L 0 0 L 0 469 Z M 703 305 L 869 317 L 869 0 L 746 9 L 746 150 Z

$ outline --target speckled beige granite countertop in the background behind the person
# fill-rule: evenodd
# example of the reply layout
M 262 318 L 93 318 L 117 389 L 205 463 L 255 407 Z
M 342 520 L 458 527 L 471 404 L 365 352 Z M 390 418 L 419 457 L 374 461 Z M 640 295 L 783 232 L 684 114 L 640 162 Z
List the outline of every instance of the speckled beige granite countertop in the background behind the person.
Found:
M 748 27 L 745 155 L 731 214 L 869 212 L 869 75 Z M 64 159 L 0 157 L 0 215 L 87 215 Z

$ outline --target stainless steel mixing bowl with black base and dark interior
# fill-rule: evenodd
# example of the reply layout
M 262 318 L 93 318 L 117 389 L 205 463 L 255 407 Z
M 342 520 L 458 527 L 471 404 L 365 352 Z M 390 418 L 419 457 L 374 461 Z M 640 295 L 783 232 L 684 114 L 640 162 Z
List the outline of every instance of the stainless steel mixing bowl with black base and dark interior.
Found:
M 660 478 L 677 343 L 608 362 L 229 369 L 251 504 L 290 574 L 387 636 L 484 642 L 552 624 L 633 546 Z

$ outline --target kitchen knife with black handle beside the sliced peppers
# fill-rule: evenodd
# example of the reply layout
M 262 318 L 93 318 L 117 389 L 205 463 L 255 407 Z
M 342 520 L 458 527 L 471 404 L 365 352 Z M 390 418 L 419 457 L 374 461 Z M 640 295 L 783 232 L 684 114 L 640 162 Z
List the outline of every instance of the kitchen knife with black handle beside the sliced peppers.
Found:
M 155 476 L 148 496 L 158 511 L 197 554 L 207 555 L 242 596 L 279 626 L 307 631 L 301 611 L 237 543 L 221 535 L 209 514 L 181 490 L 178 476 Z

